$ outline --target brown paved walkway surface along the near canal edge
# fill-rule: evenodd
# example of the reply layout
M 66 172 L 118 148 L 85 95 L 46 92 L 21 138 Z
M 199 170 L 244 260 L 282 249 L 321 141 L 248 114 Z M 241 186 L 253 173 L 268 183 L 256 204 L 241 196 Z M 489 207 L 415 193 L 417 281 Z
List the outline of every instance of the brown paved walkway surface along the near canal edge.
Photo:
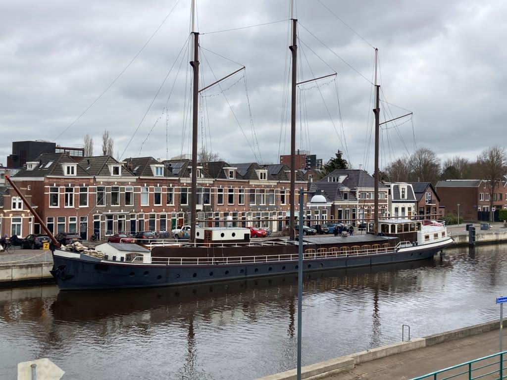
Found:
M 504 322 L 505 323 L 505 322 Z M 434 346 L 387 356 L 356 365 L 354 369 L 338 373 L 326 380 L 407 380 L 438 371 L 469 360 L 478 359 L 499 351 L 499 331 L 451 340 Z M 503 334 L 503 350 L 507 339 Z

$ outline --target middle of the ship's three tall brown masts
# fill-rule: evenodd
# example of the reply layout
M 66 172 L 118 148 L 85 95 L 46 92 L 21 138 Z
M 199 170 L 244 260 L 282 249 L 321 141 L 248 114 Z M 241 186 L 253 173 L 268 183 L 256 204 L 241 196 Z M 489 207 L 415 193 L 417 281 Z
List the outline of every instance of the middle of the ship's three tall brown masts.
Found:
M 289 46 L 292 52 L 292 99 L 291 99 L 291 194 L 289 194 L 289 203 L 291 204 L 291 216 L 289 217 L 289 237 L 291 240 L 295 238 L 294 230 L 294 213 L 296 202 L 296 74 L 297 74 L 297 51 L 296 33 L 298 20 L 294 18 L 293 3 L 291 2 L 291 19 L 292 19 L 292 45 Z M 300 233 L 302 233 L 300 231 Z

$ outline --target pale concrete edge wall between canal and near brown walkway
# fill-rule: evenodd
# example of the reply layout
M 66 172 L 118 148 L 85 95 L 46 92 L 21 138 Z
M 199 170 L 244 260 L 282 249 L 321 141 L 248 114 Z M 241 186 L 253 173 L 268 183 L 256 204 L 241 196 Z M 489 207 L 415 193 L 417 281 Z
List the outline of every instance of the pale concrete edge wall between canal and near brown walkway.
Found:
M 301 368 L 301 378 L 316 380 L 333 374 L 353 369 L 360 363 L 365 363 L 386 356 L 401 354 L 406 351 L 421 349 L 428 346 L 438 345 L 447 341 L 482 334 L 498 329 L 500 320 L 481 323 L 456 330 L 446 331 L 439 334 L 429 335 L 423 338 L 414 338 L 410 341 L 403 341 L 392 345 L 381 346 L 372 350 L 361 351 L 355 354 L 310 364 Z M 295 380 L 296 369 L 276 373 L 259 378 L 258 380 Z

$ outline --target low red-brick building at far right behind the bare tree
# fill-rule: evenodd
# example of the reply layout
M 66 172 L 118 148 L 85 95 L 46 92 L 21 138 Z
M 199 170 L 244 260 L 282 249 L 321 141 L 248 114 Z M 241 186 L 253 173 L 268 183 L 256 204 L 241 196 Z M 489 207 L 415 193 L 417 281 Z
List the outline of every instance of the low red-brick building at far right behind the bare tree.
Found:
M 436 185 L 441 207 L 455 215 L 459 207 L 460 217 L 467 221 L 477 221 L 480 212 L 491 211 L 490 188 L 489 181 L 479 179 L 448 179 L 438 181 Z M 492 211 L 507 209 L 506 182 L 498 181 L 494 184 L 493 208 Z

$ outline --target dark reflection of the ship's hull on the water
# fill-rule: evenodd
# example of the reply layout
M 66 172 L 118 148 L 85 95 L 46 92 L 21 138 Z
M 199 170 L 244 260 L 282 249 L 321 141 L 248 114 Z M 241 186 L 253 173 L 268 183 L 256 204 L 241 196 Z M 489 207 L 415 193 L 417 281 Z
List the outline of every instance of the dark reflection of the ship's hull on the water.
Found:
M 361 288 L 410 291 L 417 276 L 401 275 L 400 271 L 434 267 L 433 261 L 412 261 L 392 264 L 388 267 L 370 267 L 325 271 L 304 274 L 304 293 L 322 293 L 350 288 L 361 292 Z M 278 304 L 289 314 L 294 314 L 293 297 L 297 294 L 297 275 L 274 276 L 249 280 L 228 281 L 215 284 L 199 284 L 179 287 L 103 290 L 60 291 L 51 305 L 55 320 L 67 322 L 100 320 L 111 316 L 150 312 L 153 323 L 167 321 L 168 315 L 199 315 L 212 319 L 213 313 L 221 314 L 238 309 L 247 318 L 256 319 L 256 308 Z M 291 307 L 292 305 L 292 307 Z M 238 308 L 239 307 L 239 308 Z M 144 315 L 143 313 L 143 315 Z M 188 320 L 188 319 L 187 319 Z M 288 331 L 293 329 L 289 327 Z

